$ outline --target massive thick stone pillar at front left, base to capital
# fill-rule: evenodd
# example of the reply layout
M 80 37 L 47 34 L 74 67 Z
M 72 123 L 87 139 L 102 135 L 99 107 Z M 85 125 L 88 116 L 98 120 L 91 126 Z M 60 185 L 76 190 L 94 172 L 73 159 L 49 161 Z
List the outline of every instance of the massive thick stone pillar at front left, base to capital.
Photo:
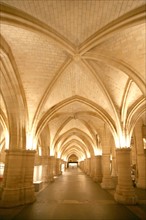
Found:
M 15 207 L 35 201 L 34 158 L 35 151 L 6 150 L 1 207 Z

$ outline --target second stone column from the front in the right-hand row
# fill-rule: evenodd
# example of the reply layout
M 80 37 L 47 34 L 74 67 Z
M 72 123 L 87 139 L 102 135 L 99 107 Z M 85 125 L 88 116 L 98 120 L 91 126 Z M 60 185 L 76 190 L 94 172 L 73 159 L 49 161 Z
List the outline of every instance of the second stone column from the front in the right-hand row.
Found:
M 115 185 L 111 177 L 111 168 L 110 168 L 110 155 L 102 155 L 102 183 L 101 187 L 103 189 L 114 189 Z

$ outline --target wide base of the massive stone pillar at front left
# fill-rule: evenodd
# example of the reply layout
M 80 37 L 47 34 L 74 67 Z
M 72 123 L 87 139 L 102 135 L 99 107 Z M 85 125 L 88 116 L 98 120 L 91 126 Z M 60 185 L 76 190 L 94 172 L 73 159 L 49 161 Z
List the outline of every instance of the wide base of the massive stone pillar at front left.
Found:
M 25 188 L 4 188 L 0 200 L 0 207 L 11 208 L 30 204 L 36 201 L 34 186 Z

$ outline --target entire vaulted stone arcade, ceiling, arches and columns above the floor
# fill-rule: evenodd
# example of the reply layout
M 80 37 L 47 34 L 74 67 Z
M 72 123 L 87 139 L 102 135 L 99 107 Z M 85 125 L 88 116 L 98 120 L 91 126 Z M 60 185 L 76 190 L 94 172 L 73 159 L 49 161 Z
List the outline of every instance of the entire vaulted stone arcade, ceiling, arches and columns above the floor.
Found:
M 0 10 L 0 206 L 35 201 L 36 185 L 69 161 L 136 204 L 133 182 L 146 189 L 145 0 L 1 0 Z

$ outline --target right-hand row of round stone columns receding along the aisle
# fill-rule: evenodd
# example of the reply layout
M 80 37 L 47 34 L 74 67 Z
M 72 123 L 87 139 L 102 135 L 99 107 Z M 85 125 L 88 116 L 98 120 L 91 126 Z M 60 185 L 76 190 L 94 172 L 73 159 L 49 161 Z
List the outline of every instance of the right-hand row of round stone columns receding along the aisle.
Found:
M 113 158 L 112 158 L 113 159 Z M 139 175 L 137 187 L 146 189 L 146 155 L 138 155 Z M 112 168 L 111 168 L 112 166 Z M 114 198 L 122 204 L 136 204 L 138 198 L 135 194 L 131 179 L 131 149 L 116 150 L 116 157 L 110 161 L 109 154 L 94 156 L 80 162 L 80 168 L 94 181 L 100 183 L 103 189 L 114 189 Z M 115 181 L 117 179 L 117 181 Z

